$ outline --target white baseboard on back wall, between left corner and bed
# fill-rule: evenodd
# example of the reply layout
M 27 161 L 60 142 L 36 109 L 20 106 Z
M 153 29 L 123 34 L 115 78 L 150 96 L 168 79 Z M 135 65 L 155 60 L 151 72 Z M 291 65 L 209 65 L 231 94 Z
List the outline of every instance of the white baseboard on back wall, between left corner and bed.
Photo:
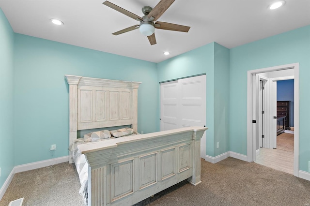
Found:
M 68 162 L 68 161 L 69 161 L 69 156 L 64 156 L 64 157 L 59 157 L 59 158 L 54 158 L 54 159 L 49 159 L 49 160 L 44 160 L 44 161 L 39 161 L 39 162 L 32 162 L 29 164 L 22 164 L 22 165 L 15 166 L 15 173 L 34 170 L 34 169 L 38 169 L 41 167 L 47 167 L 53 164 L 59 164 L 59 163 Z

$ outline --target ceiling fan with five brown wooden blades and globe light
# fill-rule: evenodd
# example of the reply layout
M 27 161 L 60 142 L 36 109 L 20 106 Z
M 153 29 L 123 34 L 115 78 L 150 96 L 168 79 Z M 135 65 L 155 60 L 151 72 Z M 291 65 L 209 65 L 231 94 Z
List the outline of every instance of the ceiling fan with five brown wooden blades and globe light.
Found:
M 140 33 L 144 36 L 147 36 L 149 39 L 149 42 L 151 45 L 156 44 L 156 38 L 155 38 L 155 28 L 156 29 L 165 29 L 165 30 L 172 30 L 172 31 L 182 31 L 182 32 L 188 32 L 190 27 L 178 25 L 178 24 L 171 24 L 167 22 L 161 22 L 156 21 L 161 15 L 164 14 L 164 12 L 171 6 L 171 4 L 174 2 L 174 0 L 160 0 L 159 3 L 154 7 L 154 9 L 150 6 L 144 6 L 142 8 L 142 13 L 144 16 L 140 17 L 138 15 L 135 15 L 109 1 L 103 2 L 104 5 L 109 6 L 110 8 L 129 16 L 130 18 L 133 18 L 137 21 L 140 21 L 140 25 L 134 25 L 131 27 L 128 27 L 126 29 L 122 29 L 119 31 L 116 31 L 112 34 L 119 35 L 128 31 L 132 31 L 135 29 L 140 29 Z M 156 21 L 156 22 L 154 22 Z

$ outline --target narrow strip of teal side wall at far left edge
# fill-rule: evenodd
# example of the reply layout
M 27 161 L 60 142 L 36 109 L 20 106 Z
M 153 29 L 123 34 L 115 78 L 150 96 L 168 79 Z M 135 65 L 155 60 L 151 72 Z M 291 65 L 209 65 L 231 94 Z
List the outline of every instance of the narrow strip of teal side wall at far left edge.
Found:
M 0 188 L 14 168 L 14 31 L 0 9 Z

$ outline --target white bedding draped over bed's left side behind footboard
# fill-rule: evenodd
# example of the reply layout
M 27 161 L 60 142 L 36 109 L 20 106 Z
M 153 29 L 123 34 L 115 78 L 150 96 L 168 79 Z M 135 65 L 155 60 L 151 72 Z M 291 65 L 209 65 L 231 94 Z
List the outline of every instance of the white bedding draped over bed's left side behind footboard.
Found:
M 137 135 L 136 133 L 133 133 L 131 135 L 127 136 L 133 136 Z M 124 137 L 119 137 L 119 138 L 126 138 L 127 136 Z M 111 137 L 109 139 L 115 139 L 115 137 Z M 99 141 L 109 141 L 109 139 L 100 139 L 97 140 Z M 77 171 L 78 171 L 78 177 L 79 177 L 79 182 L 81 183 L 81 187 L 79 189 L 79 193 L 83 196 L 83 200 L 85 205 L 88 205 L 88 191 L 87 191 L 87 186 L 88 186 L 88 163 L 86 161 L 86 157 L 84 154 L 81 154 L 81 151 L 78 149 L 78 145 L 81 144 L 89 144 L 91 142 L 85 142 L 83 138 L 78 139 L 75 141 L 70 147 L 70 153 L 73 157 L 74 163 L 76 165 Z

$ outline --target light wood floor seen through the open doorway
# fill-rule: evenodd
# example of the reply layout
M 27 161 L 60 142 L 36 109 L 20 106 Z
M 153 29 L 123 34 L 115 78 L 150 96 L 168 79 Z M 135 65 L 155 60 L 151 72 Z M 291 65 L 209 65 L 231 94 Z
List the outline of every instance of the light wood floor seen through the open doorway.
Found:
M 294 152 L 261 147 L 256 163 L 294 175 Z

